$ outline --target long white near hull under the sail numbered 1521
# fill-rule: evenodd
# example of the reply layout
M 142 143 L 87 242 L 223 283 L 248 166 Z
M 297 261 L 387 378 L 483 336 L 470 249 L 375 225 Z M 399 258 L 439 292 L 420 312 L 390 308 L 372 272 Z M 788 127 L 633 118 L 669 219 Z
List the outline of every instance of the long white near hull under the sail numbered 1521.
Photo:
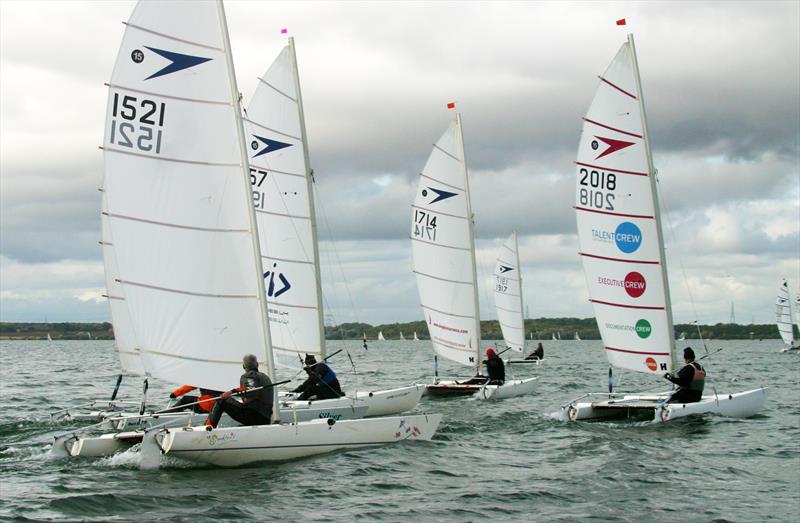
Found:
M 164 430 L 157 435 L 156 441 L 165 455 L 220 467 L 236 467 L 405 440 L 429 441 L 441 420 L 441 414 L 430 414 L 338 422 L 319 420 L 297 425 L 212 431 L 193 427 Z

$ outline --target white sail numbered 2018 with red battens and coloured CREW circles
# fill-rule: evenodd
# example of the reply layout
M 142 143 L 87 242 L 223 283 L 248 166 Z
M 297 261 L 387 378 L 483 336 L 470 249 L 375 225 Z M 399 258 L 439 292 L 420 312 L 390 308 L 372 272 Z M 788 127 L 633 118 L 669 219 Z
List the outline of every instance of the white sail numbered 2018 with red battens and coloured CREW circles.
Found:
M 632 36 L 584 118 L 575 209 L 583 269 L 611 365 L 673 369 L 673 328 Z

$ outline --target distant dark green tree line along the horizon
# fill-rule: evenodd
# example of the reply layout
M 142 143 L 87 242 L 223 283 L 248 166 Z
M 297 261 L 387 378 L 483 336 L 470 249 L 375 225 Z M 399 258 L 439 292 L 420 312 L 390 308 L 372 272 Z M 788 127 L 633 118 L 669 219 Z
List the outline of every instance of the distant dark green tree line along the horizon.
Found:
M 420 340 L 430 339 L 425 321 L 407 323 L 386 323 L 370 325 L 368 323 L 343 323 L 325 327 L 325 338 L 329 340 L 355 340 L 363 336 L 367 340 L 375 340 L 382 332 L 387 340 L 399 340 L 402 333 L 405 339 L 411 340 L 416 332 Z M 527 339 L 550 340 L 555 335 L 563 340 L 574 339 L 575 334 L 583 340 L 599 340 L 600 332 L 594 318 L 538 318 L 525 320 Z M 795 326 L 795 335 L 797 327 Z M 0 323 L 0 339 L 47 339 L 54 340 L 111 340 L 114 329 L 111 323 Z M 738 323 L 717 323 L 716 325 L 695 325 L 682 323 L 675 325 L 675 338 L 684 334 L 687 339 L 746 340 L 779 338 L 775 324 L 740 325 Z M 481 322 L 481 337 L 486 340 L 503 339 L 500 324 L 497 320 Z

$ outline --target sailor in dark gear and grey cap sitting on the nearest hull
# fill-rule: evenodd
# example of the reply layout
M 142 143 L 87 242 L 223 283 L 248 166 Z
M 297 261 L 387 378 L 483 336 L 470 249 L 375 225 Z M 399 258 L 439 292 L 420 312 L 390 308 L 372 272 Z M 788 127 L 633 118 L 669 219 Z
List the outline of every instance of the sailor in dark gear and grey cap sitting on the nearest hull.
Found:
M 206 427 L 215 428 L 223 412 L 242 425 L 269 425 L 275 394 L 272 381 L 258 372 L 258 359 L 252 354 L 242 358 L 242 368 L 244 374 L 239 378 L 239 387 L 220 396 L 206 420 Z M 241 393 L 237 394 L 241 402 L 232 397 L 234 392 Z

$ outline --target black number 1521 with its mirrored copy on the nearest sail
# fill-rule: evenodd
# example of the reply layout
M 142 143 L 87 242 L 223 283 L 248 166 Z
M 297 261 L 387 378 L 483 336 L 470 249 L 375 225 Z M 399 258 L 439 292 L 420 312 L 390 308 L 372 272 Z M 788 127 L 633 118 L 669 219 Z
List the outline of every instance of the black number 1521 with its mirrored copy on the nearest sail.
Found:
M 143 152 L 161 152 L 164 102 L 114 93 L 109 142 Z

